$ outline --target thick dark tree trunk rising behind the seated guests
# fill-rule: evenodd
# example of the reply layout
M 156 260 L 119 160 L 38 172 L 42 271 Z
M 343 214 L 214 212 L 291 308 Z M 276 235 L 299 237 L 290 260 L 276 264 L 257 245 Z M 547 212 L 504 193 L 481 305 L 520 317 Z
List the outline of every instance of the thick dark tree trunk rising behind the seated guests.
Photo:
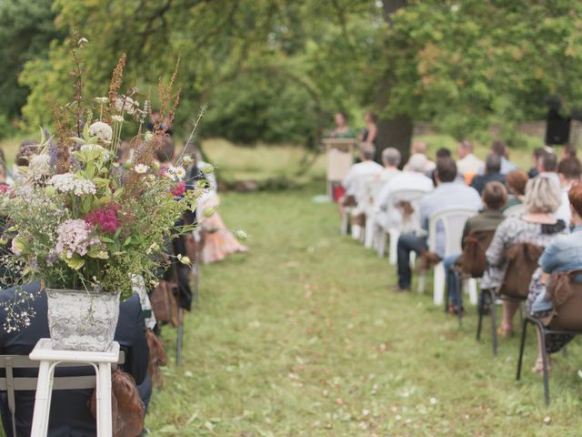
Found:
M 384 0 L 384 19 L 392 25 L 392 15 L 398 9 L 406 6 L 406 0 Z M 386 48 L 387 49 L 387 48 Z M 382 110 L 388 104 L 390 88 L 398 86 L 396 80 L 390 76 L 390 69 L 386 77 L 380 81 L 376 91 L 376 107 Z M 402 154 L 402 165 L 408 160 L 410 142 L 414 130 L 414 121 L 406 114 L 396 115 L 390 119 L 379 118 L 377 121 L 378 133 L 376 137 L 377 156 L 380 157 L 386 147 L 395 147 Z

